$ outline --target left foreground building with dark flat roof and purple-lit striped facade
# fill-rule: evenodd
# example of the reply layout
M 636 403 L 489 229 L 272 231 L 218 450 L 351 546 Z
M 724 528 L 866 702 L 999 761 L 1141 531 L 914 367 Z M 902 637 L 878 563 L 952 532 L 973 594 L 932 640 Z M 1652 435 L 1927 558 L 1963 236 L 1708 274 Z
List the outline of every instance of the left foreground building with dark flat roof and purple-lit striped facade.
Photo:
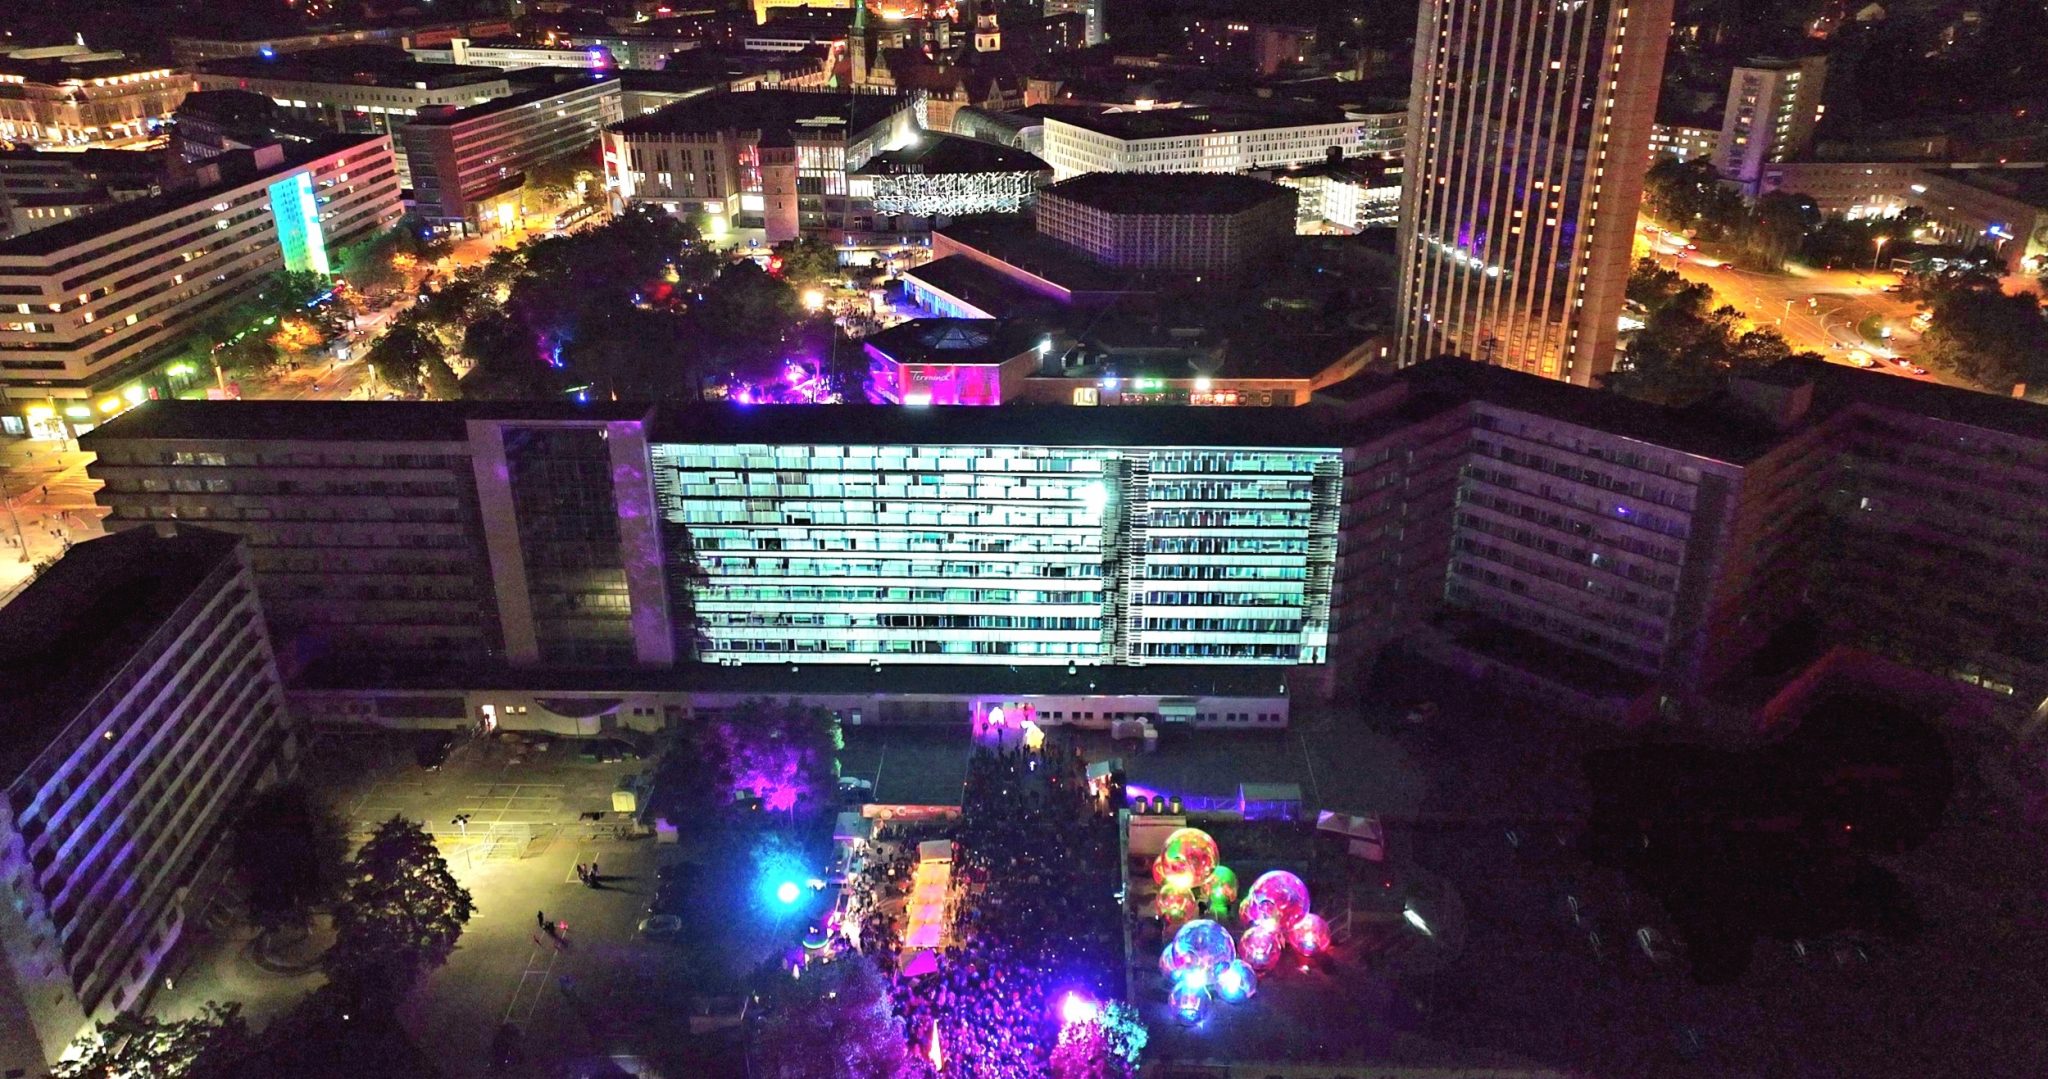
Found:
M 0 608 L 8 1075 L 145 1009 L 233 815 L 299 756 L 248 555 L 164 530 L 82 543 Z

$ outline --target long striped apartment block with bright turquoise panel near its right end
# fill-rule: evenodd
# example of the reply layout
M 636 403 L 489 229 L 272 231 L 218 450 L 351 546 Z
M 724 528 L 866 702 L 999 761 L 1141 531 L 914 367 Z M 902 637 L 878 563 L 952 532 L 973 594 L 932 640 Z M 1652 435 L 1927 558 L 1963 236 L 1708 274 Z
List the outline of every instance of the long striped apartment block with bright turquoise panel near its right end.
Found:
M 326 272 L 330 248 L 401 213 L 391 141 L 336 135 L 0 242 L 0 430 L 70 438 L 211 377 L 193 344 L 209 313 L 274 270 Z

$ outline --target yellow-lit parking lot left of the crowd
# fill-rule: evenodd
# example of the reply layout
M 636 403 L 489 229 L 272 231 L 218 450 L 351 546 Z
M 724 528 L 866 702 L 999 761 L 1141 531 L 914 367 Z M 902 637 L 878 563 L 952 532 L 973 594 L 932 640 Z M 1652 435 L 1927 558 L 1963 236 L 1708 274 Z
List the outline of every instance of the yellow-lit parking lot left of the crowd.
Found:
M 475 897 L 455 956 L 403 1013 L 414 1040 L 451 1077 L 485 1075 L 506 1026 L 530 1046 L 524 1071 L 510 1075 L 684 1073 L 694 1052 L 688 987 L 670 946 L 637 936 L 662 850 L 621 835 L 610 815 L 618 778 L 645 762 L 582 760 L 567 739 L 545 751 L 483 739 L 459 743 L 428 772 L 416 745 L 330 735 L 307 768 L 354 829 L 391 815 L 424 821 Z M 596 864 L 602 887 L 586 887 L 578 864 Z M 539 915 L 565 932 L 541 932 Z

